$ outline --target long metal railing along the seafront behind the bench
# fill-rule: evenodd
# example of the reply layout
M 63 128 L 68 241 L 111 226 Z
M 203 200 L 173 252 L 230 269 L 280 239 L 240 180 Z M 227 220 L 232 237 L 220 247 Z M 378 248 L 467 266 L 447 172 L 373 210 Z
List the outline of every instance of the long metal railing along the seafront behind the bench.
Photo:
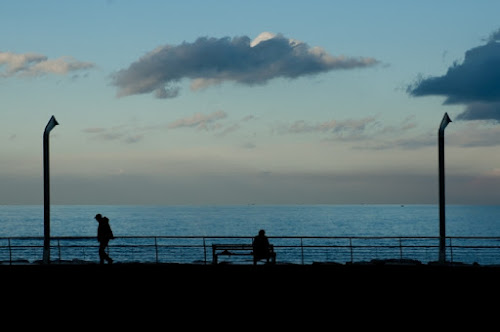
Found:
M 439 237 L 275 236 L 278 263 L 356 263 L 398 260 L 428 263 L 438 260 Z M 122 236 L 110 242 L 116 262 L 211 264 L 212 244 L 247 243 L 250 236 Z M 1 264 L 41 262 L 43 237 L 0 237 Z M 500 264 L 500 237 L 447 237 L 449 262 Z M 99 261 L 95 237 L 52 237 L 51 261 Z M 219 262 L 249 264 L 248 256 L 219 257 Z

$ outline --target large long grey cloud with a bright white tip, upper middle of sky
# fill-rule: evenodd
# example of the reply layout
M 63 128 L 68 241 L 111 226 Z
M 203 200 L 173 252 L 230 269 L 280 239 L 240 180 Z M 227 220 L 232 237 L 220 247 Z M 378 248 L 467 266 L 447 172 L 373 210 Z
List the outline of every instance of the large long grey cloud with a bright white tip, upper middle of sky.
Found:
M 330 70 L 364 68 L 374 58 L 332 56 L 320 47 L 265 32 L 249 37 L 198 38 L 193 43 L 165 45 L 147 53 L 128 68 L 112 75 L 119 97 L 153 93 L 173 98 L 182 79 L 198 90 L 226 81 L 265 84 L 283 77 L 295 79 Z

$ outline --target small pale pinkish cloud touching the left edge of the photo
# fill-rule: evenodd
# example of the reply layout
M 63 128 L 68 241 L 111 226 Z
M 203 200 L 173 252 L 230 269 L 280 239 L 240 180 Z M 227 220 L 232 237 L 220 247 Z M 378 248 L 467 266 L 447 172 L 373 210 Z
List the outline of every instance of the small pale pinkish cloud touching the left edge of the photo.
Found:
M 82 62 L 70 56 L 49 59 L 36 53 L 0 52 L 0 78 L 13 76 L 30 77 L 46 74 L 66 75 L 70 72 L 91 69 L 90 62 Z

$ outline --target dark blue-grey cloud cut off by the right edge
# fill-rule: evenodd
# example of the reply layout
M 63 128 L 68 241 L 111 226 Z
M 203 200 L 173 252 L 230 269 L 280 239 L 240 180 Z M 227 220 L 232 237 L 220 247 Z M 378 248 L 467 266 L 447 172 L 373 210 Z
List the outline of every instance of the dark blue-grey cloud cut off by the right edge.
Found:
M 466 105 L 457 119 L 500 121 L 500 30 L 485 45 L 467 51 L 464 61 L 444 76 L 420 79 L 408 93 L 445 96 L 445 104 Z

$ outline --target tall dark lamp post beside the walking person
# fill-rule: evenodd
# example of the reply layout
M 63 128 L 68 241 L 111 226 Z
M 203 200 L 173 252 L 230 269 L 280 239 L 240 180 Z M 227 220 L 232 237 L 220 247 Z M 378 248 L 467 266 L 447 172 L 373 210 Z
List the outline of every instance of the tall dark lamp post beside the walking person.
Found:
M 59 123 L 52 115 L 43 132 L 43 263 L 50 263 L 49 134 Z

